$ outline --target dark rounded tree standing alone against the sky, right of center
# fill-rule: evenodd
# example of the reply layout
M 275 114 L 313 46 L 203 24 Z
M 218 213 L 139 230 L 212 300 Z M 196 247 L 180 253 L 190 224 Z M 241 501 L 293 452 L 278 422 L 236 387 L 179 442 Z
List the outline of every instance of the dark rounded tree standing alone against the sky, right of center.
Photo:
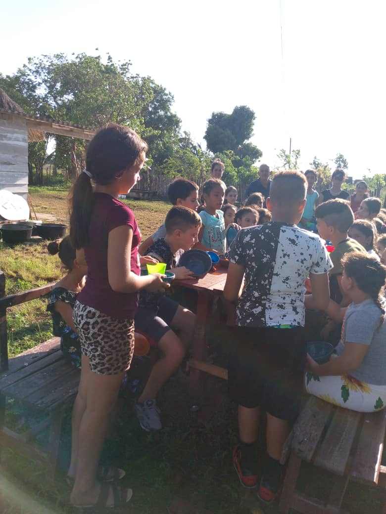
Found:
M 250 157 L 253 162 L 262 156 L 254 144 L 247 142 L 253 136 L 255 113 L 246 105 L 239 105 L 232 114 L 212 113 L 208 119 L 204 139 L 214 154 L 231 150 L 239 157 Z

